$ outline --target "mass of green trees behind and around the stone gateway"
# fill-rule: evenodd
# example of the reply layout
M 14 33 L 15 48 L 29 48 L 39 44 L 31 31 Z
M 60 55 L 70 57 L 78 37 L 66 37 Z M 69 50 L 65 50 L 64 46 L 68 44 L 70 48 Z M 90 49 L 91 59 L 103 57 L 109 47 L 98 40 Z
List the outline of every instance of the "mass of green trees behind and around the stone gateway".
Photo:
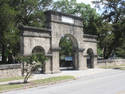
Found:
M 18 29 L 19 25 L 43 27 L 44 11 L 50 9 L 81 17 L 83 32 L 98 36 L 98 54 L 101 57 L 125 57 L 125 0 L 95 0 L 93 3 L 97 8 L 103 7 L 101 15 L 90 5 L 77 3 L 76 0 L 56 2 L 53 0 L 0 0 L 2 62 L 15 62 L 14 58 L 19 53 L 21 32 Z

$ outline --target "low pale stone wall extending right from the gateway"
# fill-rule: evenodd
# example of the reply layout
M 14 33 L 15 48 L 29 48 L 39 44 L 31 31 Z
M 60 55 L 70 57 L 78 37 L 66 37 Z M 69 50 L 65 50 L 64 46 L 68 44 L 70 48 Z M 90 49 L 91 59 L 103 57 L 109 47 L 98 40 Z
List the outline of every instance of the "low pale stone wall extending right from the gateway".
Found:
M 122 65 L 125 64 L 125 59 L 105 59 L 105 60 L 98 60 L 98 67 L 101 66 L 113 66 L 113 65 Z

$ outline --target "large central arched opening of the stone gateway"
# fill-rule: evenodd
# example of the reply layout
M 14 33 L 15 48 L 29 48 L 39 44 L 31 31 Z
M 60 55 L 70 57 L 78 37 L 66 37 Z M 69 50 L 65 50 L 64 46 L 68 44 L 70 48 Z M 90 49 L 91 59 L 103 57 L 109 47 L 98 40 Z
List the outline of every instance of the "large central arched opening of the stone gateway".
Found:
M 72 35 L 65 35 L 60 39 L 60 70 L 74 70 L 78 63 L 78 44 Z

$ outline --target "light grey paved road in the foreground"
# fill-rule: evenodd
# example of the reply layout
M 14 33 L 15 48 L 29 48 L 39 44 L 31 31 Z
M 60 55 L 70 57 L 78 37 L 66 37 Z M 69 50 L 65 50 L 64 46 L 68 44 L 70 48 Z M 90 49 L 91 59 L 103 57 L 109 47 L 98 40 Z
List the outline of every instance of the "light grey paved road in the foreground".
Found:
M 4 94 L 125 94 L 125 71 L 109 70 L 73 81 Z

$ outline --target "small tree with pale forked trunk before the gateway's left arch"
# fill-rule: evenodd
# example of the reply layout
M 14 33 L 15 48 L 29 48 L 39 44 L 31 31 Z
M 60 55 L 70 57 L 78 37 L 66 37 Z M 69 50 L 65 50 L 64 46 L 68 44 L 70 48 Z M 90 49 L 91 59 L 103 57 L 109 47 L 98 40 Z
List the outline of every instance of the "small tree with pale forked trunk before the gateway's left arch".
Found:
M 37 68 L 44 65 L 47 58 L 43 54 L 32 54 L 29 56 L 19 56 L 18 61 L 21 63 L 25 63 L 25 76 L 24 83 L 27 83 L 29 77 L 32 75 L 32 72 Z

